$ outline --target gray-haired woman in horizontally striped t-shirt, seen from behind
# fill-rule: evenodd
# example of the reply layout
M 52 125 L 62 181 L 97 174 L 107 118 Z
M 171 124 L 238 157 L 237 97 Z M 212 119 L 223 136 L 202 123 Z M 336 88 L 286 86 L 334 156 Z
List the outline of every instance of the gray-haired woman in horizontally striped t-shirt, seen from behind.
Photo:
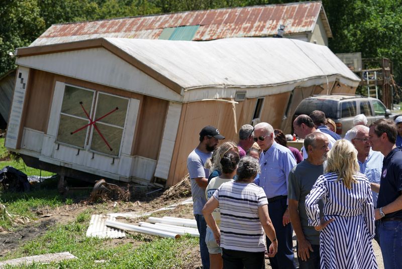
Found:
M 277 252 L 278 242 L 265 192 L 253 183 L 259 172 L 258 161 L 244 157 L 237 168 L 237 180 L 223 183 L 204 206 L 207 224 L 222 248 L 224 268 L 265 268 L 264 231 L 272 242 L 268 255 L 273 257 Z M 212 215 L 218 206 L 219 227 Z

